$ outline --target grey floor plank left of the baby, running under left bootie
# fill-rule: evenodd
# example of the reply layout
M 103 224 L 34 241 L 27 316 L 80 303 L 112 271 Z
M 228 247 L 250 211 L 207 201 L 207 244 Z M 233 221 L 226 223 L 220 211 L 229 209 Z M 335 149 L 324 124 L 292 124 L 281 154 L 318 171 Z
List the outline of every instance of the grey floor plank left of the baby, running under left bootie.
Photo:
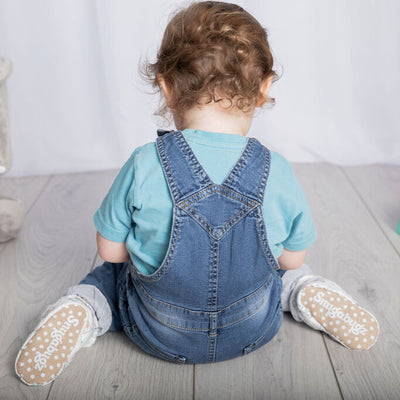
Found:
M 50 390 L 50 386 L 34 388 L 21 383 L 14 372 L 15 357 L 43 307 L 56 301 L 91 268 L 96 254 L 92 214 L 112 176 L 53 177 L 27 214 L 18 238 L 7 242 L 0 253 L 1 399 L 43 399 Z M 46 178 L 39 178 L 39 184 L 42 179 Z M 31 196 L 29 185 L 26 198 Z M 23 198 L 23 193 L 19 197 Z

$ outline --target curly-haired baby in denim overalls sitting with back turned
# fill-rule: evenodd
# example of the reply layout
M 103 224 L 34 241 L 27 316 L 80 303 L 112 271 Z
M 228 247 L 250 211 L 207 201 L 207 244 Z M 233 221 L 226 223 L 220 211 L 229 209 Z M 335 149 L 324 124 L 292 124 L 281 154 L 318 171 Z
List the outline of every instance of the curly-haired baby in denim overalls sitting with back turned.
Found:
M 316 232 L 290 164 L 246 137 L 273 103 L 260 23 L 235 4 L 193 3 L 146 75 L 177 129 L 122 167 L 94 215 L 105 262 L 44 313 L 17 356 L 20 379 L 49 384 L 116 330 L 171 362 L 228 360 L 268 343 L 284 311 L 350 349 L 373 346 L 374 316 L 304 264 Z

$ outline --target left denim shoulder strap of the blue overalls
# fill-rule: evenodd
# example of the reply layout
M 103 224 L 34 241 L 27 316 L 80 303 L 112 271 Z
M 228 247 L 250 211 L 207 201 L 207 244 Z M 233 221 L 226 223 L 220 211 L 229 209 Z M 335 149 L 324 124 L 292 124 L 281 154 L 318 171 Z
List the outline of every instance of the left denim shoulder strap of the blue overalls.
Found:
M 213 184 L 181 131 L 157 134 L 157 152 L 174 203 Z

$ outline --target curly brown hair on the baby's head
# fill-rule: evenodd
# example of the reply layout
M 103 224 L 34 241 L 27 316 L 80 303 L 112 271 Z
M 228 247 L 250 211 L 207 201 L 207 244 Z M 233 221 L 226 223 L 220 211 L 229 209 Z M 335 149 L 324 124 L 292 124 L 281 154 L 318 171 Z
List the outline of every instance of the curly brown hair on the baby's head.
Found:
M 160 74 L 173 94 L 169 108 L 180 115 L 195 105 L 223 99 L 246 111 L 261 98 L 260 85 L 273 76 L 267 32 L 242 7 L 219 1 L 192 3 L 169 21 L 155 63 L 139 68 L 161 92 Z M 274 98 L 266 103 L 275 104 Z M 165 101 L 155 115 L 165 117 Z

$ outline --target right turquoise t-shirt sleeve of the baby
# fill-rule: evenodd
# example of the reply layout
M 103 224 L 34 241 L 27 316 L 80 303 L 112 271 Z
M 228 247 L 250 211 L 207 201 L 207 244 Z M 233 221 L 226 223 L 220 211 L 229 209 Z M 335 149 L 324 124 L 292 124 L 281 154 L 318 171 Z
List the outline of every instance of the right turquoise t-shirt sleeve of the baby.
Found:
M 310 247 L 317 239 L 317 232 L 311 217 L 306 196 L 290 166 L 290 197 L 294 202 L 293 214 L 290 218 L 289 235 L 282 242 L 285 249 L 300 251 Z

